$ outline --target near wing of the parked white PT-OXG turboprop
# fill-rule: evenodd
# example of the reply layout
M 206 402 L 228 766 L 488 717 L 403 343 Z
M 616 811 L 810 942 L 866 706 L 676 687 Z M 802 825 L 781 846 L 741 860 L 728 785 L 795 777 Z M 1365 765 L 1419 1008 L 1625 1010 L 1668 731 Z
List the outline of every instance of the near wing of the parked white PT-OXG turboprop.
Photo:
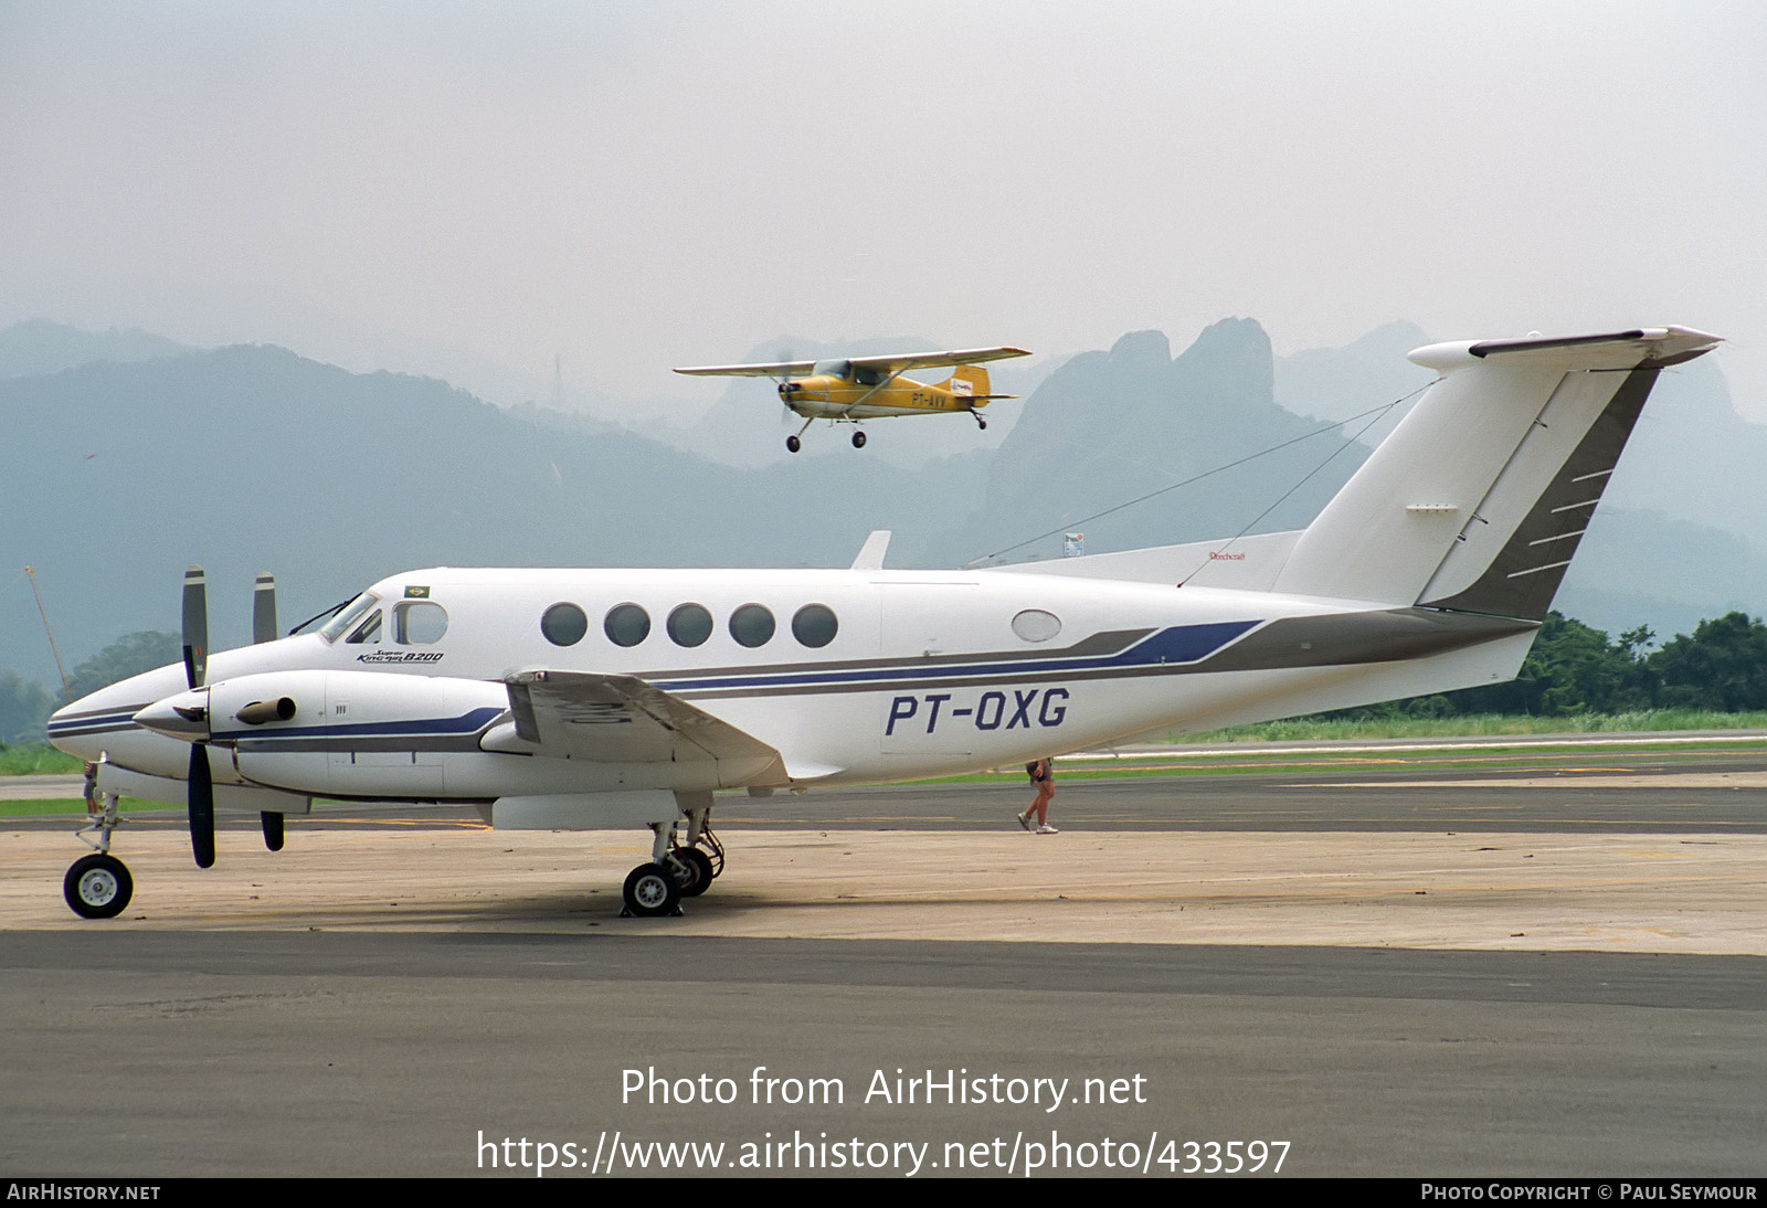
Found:
M 730 722 L 629 675 L 518 671 L 504 680 L 516 736 L 537 754 L 603 763 L 779 759 Z

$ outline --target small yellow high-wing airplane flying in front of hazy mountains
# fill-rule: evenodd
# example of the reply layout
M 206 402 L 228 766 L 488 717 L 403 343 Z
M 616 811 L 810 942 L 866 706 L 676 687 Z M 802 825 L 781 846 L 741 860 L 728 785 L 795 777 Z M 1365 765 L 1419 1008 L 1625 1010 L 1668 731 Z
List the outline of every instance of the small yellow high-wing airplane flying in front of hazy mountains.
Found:
M 938 353 L 899 353 L 894 357 L 850 357 L 846 360 L 777 360 L 763 366 L 694 366 L 677 369 L 696 378 L 776 378 L 779 401 L 804 417 L 804 427 L 785 438 L 785 447 L 797 452 L 802 436 L 818 419 L 857 426 L 859 420 L 891 415 L 942 415 L 968 411 L 977 427 L 988 427 L 981 410 L 993 399 L 1011 399 L 1011 394 L 988 392 L 988 371 L 975 366 L 984 360 L 1028 357 L 1023 348 L 963 348 Z M 951 376 L 938 383 L 921 383 L 901 374 L 908 369 L 952 366 Z M 862 427 L 853 431 L 853 449 L 866 447 Z

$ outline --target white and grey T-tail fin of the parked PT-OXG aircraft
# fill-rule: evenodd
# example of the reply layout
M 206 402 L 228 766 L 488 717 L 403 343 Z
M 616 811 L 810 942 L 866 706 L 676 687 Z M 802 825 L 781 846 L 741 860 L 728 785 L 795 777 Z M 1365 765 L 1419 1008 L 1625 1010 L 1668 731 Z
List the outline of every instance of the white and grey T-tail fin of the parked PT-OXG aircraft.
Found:
M 1442 378 L 1301 535 L 1276 590 L 1543 618 L 1657 373 L 1718 343 L 1656 327 L 1419 348 Z

